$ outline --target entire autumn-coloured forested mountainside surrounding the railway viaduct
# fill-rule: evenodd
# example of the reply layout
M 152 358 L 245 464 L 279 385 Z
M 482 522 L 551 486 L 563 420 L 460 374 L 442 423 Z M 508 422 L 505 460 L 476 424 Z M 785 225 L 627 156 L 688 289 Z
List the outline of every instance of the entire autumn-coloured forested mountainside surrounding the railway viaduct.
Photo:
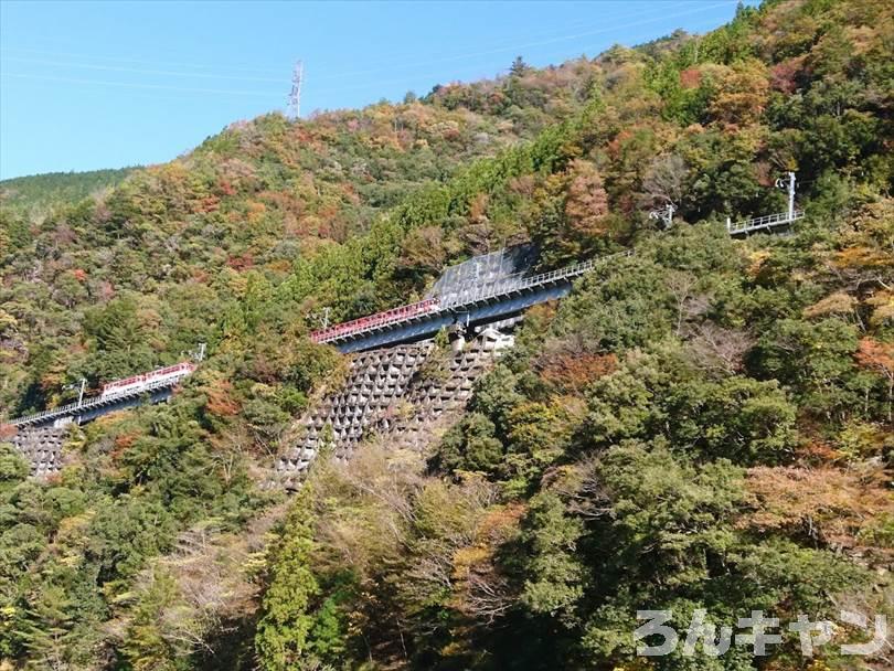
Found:
M 0 459 L 0 654 L 29 669 L 858 669 L 840 627 L 636 657 L 637 609 L 894 617 L 894 15 L 768 2 L 704 36 L 241 123 L 0 228 L 0 405 L 209 360 L 164 407 Z M 784 210 L 788 237 L 723 221 Z M 649 210 L 672 203 L 659 231 Z M 262 487 L 341 356 L 308 338 L 534 241 L 631 247 L 531 310 L 433 454 Z M 887 656 L 887 657 L 885 657 Z

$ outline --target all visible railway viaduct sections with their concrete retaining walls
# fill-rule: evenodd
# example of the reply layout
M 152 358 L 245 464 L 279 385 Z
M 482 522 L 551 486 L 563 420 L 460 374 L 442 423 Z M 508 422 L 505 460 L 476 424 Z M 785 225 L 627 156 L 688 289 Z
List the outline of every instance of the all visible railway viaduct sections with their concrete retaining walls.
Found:
M 734 237 L 778 233 L 802 216 L 792 210 L 727 222 L 726 228 Z M 501 333 L 499 327 L 511 328 L 525 309 L 566 296 L 575 279 L 631 254 L 627 251 L 531 274 L 536 257 L 531 245 L 501 249 L 447 268 L 422 301 L 315 331 L 311 339 L 316 342 L 352 354 L 351 372 L 343 390 L 333 391 L 298 420 L 298 436 L 285 446 L 273 480 L 296 487 L 326 440 L 338 456 L 347 457 L 364 437 L 401 428 L 413 436 L 415 448 L 424 448 L 423 437 L 436 438 L 438 427 L 461 412 L 475 379 L 511 344 L 512 337 Z M 458 337 L 458 343 L 448 360 L 440 362 L 443 379 L 426 380 L 421 371 L 433 353 L 432 338 L 445 328 Z M 15 427 L 11 441 L 31 461 L 32 475 L 52 475 L 62 466 L 61 446 L 70 424 L 164 402 L 187 375 L 18 417 L 8 423 Z M 409 416 L 400 422 L 395 420 L 398 404 L 411 406 Z

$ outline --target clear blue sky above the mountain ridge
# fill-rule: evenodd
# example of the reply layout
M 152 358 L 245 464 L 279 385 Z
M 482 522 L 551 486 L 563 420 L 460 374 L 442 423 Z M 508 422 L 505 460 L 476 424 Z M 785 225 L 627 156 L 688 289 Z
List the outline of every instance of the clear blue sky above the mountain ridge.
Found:
M 754 3 L 754 2 L 749 2 Z M 170 160 L 228 124 L 419 95 L 677 28 L 734 0 L 590 2 L 65 2 L 0 0 L 0 178 Z

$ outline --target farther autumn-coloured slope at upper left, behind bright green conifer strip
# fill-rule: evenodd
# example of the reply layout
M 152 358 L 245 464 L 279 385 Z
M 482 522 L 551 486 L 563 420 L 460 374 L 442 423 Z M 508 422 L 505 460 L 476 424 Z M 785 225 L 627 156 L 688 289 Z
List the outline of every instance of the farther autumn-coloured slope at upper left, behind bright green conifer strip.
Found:
M 234 124 L 189 156 L 136 171 L 111 193 L 40 221 L 4 210 L 0 321 L 9 329 L 9 355 L 0 404 L 20 412 L 56 402 L 72 375 L 95 383 L 169 362 L 196 340 L 233 336 L 224 322 L 243 319 L 246 291 L 259 296 L 295 281 L 296 264 L 310 259 L 342 263 L 334 257 L 353 247 L 341 243 L 356 241 L 376 213 L 415 187 L 437 183 L 571 114 L 546 115 L 540 107 L 547 100 L 579 108 L 594 71 L 581 62 L 520 72 L 502 84 L 500 114 L 489 116 L 419 102 L 300 124 L 270 115 Z M 528 103 L 529 88 L 551 94 Z M 383 253 L 400 241 L 386 244 Z M 400 295 L 382 286 L 353 299 L 344 291 L 341 300 L 353 303 L 340 315 Z M 96 306 L 103 309 L 87 309 Z M 115 310 L 120 315 L 113 317 Z M 288 319 L 304 326 L 307 311 L 296 303 Z M 127 342 L 111 344 L 99 332 L 103 315 L 130 329 L 116 336 Z M 111 350 L 127 355 L 118 361 Z

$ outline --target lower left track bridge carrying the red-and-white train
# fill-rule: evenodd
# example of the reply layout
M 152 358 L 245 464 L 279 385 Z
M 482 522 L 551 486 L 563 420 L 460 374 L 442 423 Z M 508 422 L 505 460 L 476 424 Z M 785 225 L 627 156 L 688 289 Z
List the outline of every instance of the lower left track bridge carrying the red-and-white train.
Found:
M 120 409 L 126 409 L 143 403 L 161 403 L 173 394 L 184 377 L 190 372 L 166 377 L 163 380 L 147 381 L 143 384 L 135 385 L 118 394 L 105 394 L 96 398 L 84 401 L 83 403 L 70 403 L 58 407 L 25 415 L 11 419 L 8 424 L 20 428 L 40 426 L 65 426 L 66 424 L 84 424 L 92 419 Z

